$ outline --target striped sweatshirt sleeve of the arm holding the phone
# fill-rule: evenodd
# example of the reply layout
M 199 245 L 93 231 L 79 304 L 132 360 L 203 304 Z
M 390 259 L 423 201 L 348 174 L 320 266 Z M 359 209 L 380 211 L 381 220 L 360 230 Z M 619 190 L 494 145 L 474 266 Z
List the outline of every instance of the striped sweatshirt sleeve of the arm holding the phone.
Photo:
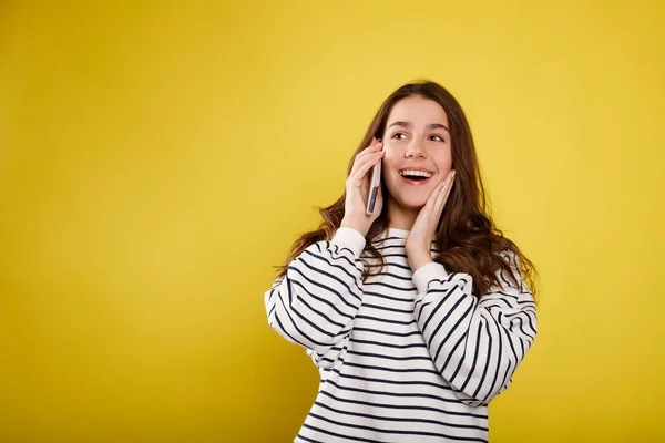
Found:
M 365 237 L 339 228 L 303 251 L 265 292 L 268 323 L 315 359 L 339 348 L 361 305 Z M 330 351 L 330 352 L 328 352 Z

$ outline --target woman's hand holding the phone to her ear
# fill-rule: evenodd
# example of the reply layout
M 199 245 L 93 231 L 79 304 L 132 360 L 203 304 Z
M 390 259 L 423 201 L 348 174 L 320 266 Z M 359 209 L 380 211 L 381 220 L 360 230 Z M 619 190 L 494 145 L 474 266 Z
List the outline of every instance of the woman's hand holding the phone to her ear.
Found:
M 372 144 L 356 155 L 351 173 L 346 182 L 344 218 L 340 226 L 354 228 L 364 237 L 383 207 L 383 196 L 381 187 L 379 187 L 374 213 L 371 215 L 366 213 L 369 196 L 369 171 L 383 158 L 385 154 L 383 144 L 377 143 L 376 138 L 372 138 Z

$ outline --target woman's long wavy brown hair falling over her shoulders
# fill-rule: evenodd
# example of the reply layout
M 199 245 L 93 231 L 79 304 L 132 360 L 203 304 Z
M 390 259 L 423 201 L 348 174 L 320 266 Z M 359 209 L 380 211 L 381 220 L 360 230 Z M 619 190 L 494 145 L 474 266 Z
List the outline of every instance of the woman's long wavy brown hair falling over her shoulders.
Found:
M 512 261 L 512 266 L 520 268 L 528 289 L 535 295 L 536 270 L 531 260 L 513 241 L 504 237 L 492 222 L 469 122 L 458 101 L 443 86 L 423 80 L 405 84 L 390 94 L 379 107 L 351 157 L 347 176 L 351 172 L 356 155 L 370 145 L 372 137 L 383 138 L 386 122 L 392 106 L 400 100 L 413 95 L 439 103 L 446 111 L 450 124 L 452 167 L 456 171 L 456 178 L 434 237 L 438 251 L 434 260 L 443 265 L 449 272 L 469 274 L 473 278 L 473 293 L 478 298 L 491 288 L 503 285 L 503 281 L 499 281 L 499 270 L 503 270 L 504 276 L 515 286 L 521 287 L 511 269 Z M 381 254 L 372 245 L 372 241 L 390 226 L 387 204 L 390 194 L 385 182 L 381 186 L 387 198 L 381 214 L 366 236 L 364 279 L 379 274 L 386 264 Z M 344 218 L 345 198 L 346 192 L 332 205 L 319 208 L 323 222 L 316 230 L 304 234 L 295 241 L 285 264 L 279 267 L 278 278 L 286 275 L 288 265 L 304 249 L 315 243 L 332 238 Z M 509 253 L 509 256 L 513 255 L 513 259 L 507 257 L 505 253 Z

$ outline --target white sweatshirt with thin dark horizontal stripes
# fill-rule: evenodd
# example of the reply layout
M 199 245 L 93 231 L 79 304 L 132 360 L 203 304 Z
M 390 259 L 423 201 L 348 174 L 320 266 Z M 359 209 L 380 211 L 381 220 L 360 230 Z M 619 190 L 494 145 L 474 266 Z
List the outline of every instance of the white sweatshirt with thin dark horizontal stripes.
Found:
M 366 240 L 339 228 L 266 291 L 270 327 L 320 373 L 295 442 L 488 441 L 488 403 L 535 337 L 534 299 L 512 253 L 502 256 L 519 285 L 500 271 L 480 301 L 468 274 L 437 262 L 413 274 L 408 234 L 389 228 L 375 241 L 387 266 L 362 281 Z

